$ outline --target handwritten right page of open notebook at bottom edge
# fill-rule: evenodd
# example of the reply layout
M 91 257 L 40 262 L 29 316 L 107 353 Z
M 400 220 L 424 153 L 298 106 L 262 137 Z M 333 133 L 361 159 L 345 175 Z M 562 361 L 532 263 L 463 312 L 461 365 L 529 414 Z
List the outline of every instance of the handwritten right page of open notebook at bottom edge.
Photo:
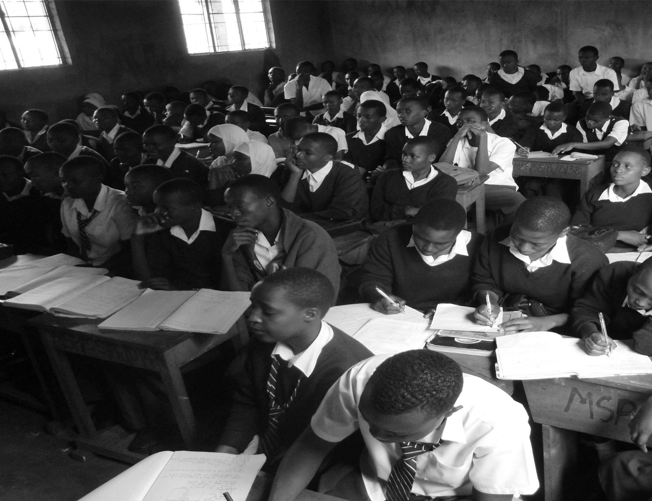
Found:
M 143 501 L 245 501 L 265 455 L 176 451 Z

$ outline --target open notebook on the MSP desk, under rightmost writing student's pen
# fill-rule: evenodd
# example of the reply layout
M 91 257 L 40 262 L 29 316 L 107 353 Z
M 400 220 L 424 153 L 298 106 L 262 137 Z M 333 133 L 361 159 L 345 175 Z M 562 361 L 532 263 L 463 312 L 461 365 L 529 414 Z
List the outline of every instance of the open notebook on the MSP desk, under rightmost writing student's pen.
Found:
M 614 341 L 611 356 L 589 356 L 584 341 L 554 332 L 521 332 L 496 338 L 499 379 L 609 377 L 652 374 L 649 356 L 636 353 L 625 341 Z

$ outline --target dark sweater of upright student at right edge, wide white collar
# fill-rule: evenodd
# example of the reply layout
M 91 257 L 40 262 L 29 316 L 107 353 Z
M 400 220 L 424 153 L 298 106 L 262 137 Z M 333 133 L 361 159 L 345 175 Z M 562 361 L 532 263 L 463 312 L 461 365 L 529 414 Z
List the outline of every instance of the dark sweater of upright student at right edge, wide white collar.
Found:
M 607 188 L 609 184 L 600 184 L 584 193 L 571 223 L 612 226 L 617 231 L 641 231 L 649 225 L 652 221 L 652 193 L 641 193 L 626 202 L 598 200 Z

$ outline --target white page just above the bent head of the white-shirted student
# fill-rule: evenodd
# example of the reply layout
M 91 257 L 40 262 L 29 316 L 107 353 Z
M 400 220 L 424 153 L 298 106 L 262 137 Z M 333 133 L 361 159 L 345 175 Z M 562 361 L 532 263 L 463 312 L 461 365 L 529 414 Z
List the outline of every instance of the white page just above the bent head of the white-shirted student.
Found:
M 423 348 L 433 332 L 426 324 L 401 321 L 395 318 L 397 316 L 371 319 L 353 337 L 374 355 Z

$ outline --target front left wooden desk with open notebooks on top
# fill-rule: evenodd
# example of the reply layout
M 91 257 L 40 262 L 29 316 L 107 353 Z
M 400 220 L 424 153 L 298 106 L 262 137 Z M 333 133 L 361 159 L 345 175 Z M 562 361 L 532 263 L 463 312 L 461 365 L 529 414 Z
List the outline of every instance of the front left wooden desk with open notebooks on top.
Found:
M 68 353 L 138 367 L 158 373 L 170 398 L 175 420 L 188 448 L 192 447 L 196 421 L 181 376 L 181 367 L 220 343 L 232 339 L 236 349 L 247 341 L 241 320 L 224 336 L 174 331 L 101 331 L 100 320 L 40 315 L 29 321 L 38 328 L 80 435 L 96 438 L 98 431 L 85 405 L 68 361 Z M 91 448 L 91 450 L 93 450 Z M 126 451 L 93 450 L 121 461 L 141 458 Z M 133 461 L 132 461 L 133 462 Z

